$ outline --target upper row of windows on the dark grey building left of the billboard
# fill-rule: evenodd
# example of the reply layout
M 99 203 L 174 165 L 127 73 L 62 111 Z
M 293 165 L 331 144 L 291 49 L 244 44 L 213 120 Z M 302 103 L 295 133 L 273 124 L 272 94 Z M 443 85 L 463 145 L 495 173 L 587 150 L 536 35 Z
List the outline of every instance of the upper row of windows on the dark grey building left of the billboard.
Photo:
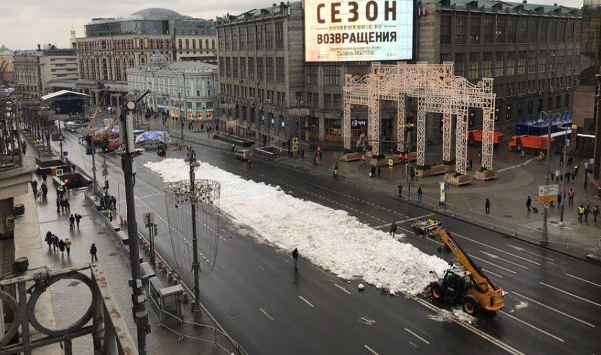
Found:
M 225 48 L 226 51 L 284 49 L 284 22 L 219 29 L 218 40 L 219 48 Z

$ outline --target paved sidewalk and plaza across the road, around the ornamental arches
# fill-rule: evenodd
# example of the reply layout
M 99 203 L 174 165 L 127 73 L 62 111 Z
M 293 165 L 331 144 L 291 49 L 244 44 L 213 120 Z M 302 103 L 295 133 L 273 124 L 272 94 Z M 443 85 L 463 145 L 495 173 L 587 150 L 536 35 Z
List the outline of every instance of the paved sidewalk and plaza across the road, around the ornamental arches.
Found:
M 166 127 L 162 125 L 160 120 L 151 119 L 144 121 L 150 124 L 152 129 L 166 131 Z M 171 126 L 172 138 L 180 137 L 180 129 L 178 122 Z M 230 149 L 227 143 L 210 139 L 206 132 L 189 131 L 187 126 L 184 129 L 184 138 L 187 141 L 203 144 L 206 146 L 218 147 L 224 150 Z M 475 170 L 480 168 L 478 152 L 480 147 L 468 147 L 468 159 L 472 159 L 474 166 L 469 174 L 474 174 Z M 377 179 L 369 177 L 369 168 L 361 167 L 360 161 L 343 162 L 339 161 L 340 151 L 327 149 L 323 152 L 323 159 L 319 167 L 313 167 L 314 152 L 305 152 L 304 159 L 289 159 L 280 157 L 277 161 L 280 164 L 285 164 L 295 168 L 305 168 L 314 172 L 329 175 L 334 168 L 335 162 L 338 162 L 338 171 L 343 179 L 349 179 L 353 182 L 366 185 L 368 187 L 378 188 L 379 190 L 388 191 L 390 194 L 397 195 L 397 185 L 403 185 L 403 196 L 408 193 L 407 176 L 404 173 L 403 165 L 394 165 L 392 174 L 389 173 L 387 167 L 382 167 L 382 175 Z M 441 161 L 441 147 L 427 147 L 427 161 L 435 164 Z M 532 235 L 526 236 L 525 240 L 537 242 L 540 238 L 540 229 L 543 226 L 543 204 L 538 203 L 538 186 L 545 185 L 545 164 L 539 164 L 536 161 L 536 156 L 526 155 L 524 159 L 520 158 L 519 153 L 510 152 L 505 145 L 499 146 L 494 152 L 494 167 L 498 172 L 498 177 L 492 181 L 478 181 L 472 177 L 471 184 L 463 187 L 450 187 L 447 193 L 447 205 L 451 209 L 453 205 L 461 206 L 460 209 L 469 211 L 469 219 L 474 220 L 475 217 L 487 217 L 495 220 L 496 224 L 508 224 L 519 226 L 511 230 L 511 235 L 519 237 L 520 233 Z M 560 156 L 552 154 L 550 167 L 552 171 L 560 168 Z M 599 253 L 601 240 L 599 239 L 601 227 L 601 218 L 594 223 L 593 215 L 591 214 L 588 223 L 579 223 L 576 209 L 579 204 L 601 205 L 601 199 L 596 196 L 596 191 L 593 187 L 584 190 L 584 162 L 585 159 L 574 158 L 574 162 L 570 167 L 566 166 L 566 171 L 574 171 L 574 166 L 579 165 L 579 173 L 576 176 L 575 182 L 566 183 L 566 191 L 572 187 L 575 191 L 574 205 L 564 207 L 564 223 L 566 227 L 558 227 L 560 221 L 560 208 L 555 203 L 555 208 L 549 209 L 548 230 L 549 234 L 558 236 L 557 245 L 552 248 L 560 250 L 572 255 L 577 255 L 584 258 L 589 253 Z M 415 164 L 415 161 L 412 162 Z M 561 171 L 561 169 L 560 169 Z M 440 196 L 439 183 L 444 181 L 444 175 L 430 176 L 419 178 L 411 182 L 412 197 L 415 199 L 416 191 L 419 187 L 422 188 L 424 199 L 431 200 L 433 206 L 438 208 L 438 200 Z M 556 184 L 557 181 L 550 181 L 549 184 Z M 566 193 L 567 194 L 567 193 Z M 539 211 L 538 214 L 526 210 L 526 198 L 531 196 L 532 206 Z M 484 202 L 490 199 L 492 203 L 491 214 L 484 215 Z M 464 219 L 460 215 L 454 216 Z M 491 227 L 491 224 L 484 225 Z M 495 227 L 492 225 L 492 227 Z M 519 230 L 518 230 L 519 229 Z M 522 230 L 523 229 L 523 230 Z M 578 250 L 573 250 L 578 249 Z

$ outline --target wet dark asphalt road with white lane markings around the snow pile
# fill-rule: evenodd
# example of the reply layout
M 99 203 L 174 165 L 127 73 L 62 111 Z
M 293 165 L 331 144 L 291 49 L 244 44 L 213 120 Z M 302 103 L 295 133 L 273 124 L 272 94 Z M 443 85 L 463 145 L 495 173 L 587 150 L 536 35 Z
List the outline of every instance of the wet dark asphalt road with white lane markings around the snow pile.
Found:
M 69 151 L 69 159 L 91 172 L 91 157 L 85 156 L 75 135 L 66 138 L 64 149 Z M 416 238 L 408 230 L 411 218 L 430 211 L 258 159 L 249 171 L 231 153 L 209 147 L 197 147 L 197 155 L 201 161 L 245 178 L 280 185 L 293 196 L 345 209 L 374 227 L 400 222 L 399 227 L 406 229 L 401 230 L 407 234 L 406 242 L 438 255 L 436 241 Z M 184 156 L 185 152 L 168 153 L 168 158 Z M 157 250 L 174 264 L 161 194 L 164 184 L 142 167 L 160 159 L 154 152 L 136 158 L 136 214 L 140 223 L 144 212 L 156 212 Z M 124 198 L 120 161 L 115 156 L 107 161 L 111 194 L 120 200 Z M 99 162 L 102 158 L 97 157 Z M 123 202 L 123 214 L 124 208 Z M 294 273 L 289 251 L 258 244 L 251 230 L 227 220 L 222 220 L 224 239 L 219 241 L 216 270 L 201 280 L 202 300 L 250 354 L 507 352 L 485 339 L 486 335 L 517 353 L 599 353 L 600 267 L 452 218 L 430 217 L 442 220 L 474 262 L 508 292 L 505 309 L 478 319 L 476 332 L 430 319 L 435 310 L 410 298 L 391 297 L 371 287 L 359 293 L 358 282 L 346 283 L 303 259 L 299 272 Z M 191 279 L 187 281 L 192 285 Z M 520 301 L 528 306 L 518 309 Z

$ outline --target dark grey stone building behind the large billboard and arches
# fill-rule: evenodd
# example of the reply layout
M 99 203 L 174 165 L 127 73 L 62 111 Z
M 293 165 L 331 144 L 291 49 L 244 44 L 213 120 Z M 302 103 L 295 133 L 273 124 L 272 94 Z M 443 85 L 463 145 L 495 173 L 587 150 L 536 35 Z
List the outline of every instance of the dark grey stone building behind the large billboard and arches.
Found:
M 284 60 L 284 66 L 279 69 L 285 74 L 285 81 L 294 85 L 288 90 L 287 106 L 269 106 L 267 110 L 286 112 L 296 106 L 296 102 L 302 102 L 309 110 L 306 117 L 308 136 L 322 141 L 340 141 L 344 75 L 364 75 L 369 72 L 370 64 L 305 63 L 304 42 L 300 40 L 304 38 L 302 11 L 301 2 L 281 3 L 276 7 L 218 19 L 222 97 L 224 102 L 235 103 L 227 105 L 233 108 L 233 113 L 225 111 L 221 119 L 240 119 L 240 128 L 261 134 L 259 131 L 263 128 L 249 125 L 253 117 L 244 115 L 239 108 L 256 105 L 255 102 L 262 99 L 258 96 L 262 90 L 273 92 L 276 85 L 269 81 L 273 76 L 268 78 L 267 71 L 273 72 L 274 67 L 278 70 L 278 57 L 291 57 L 302 61 L 302 70 L 298 70 L 299 64 L 294 60 Z M 587 66 L 579 49 L 580 10 L 526 2 L 426 0 L 416 11 L 414 61 L 454 61 L 456 75 L 474 82 L 483 77 L 495 78 L 496 129 L 511 132 L 517 120 L 523 117 L 536 116 L 543 110 L 569 110 L 579 73 Z M 267 51 L 267 38 L 273 41 L 275 37 L 275 30 L 269 26 L 275 25 L 276 20 L 295 25 L 284 26 L 281 35 L 275 33 L 275 36 L 284 37 L 284 48 Z M 248 39 L 249 25 L 252 42 Z M 240 48 L 240 36 L 246 36 L 242 37 L 246 38 L 246 48 Z M 244 72 L 240 61 L 245 62 Z M 249 61 L 252 61 L 251 65 L 248 65 Z M 251 73 L 261 75 L 251 79 Z M 296 97 L 299 99 L 295 100 Z M 406 102 L 406 117 L 411 122 L 416 116 L 415 102 Z M 396 103 L 384 101 L 381 108 L 382 136 L 392 138 L 397 125 Z M 367 118 L 367 110 L 361 106 L 353 107 L 352 115 Z M 478 111 L 470 113 L 471 127 L 481 125 L 480 116 Z M 283 118 L 288 119 L 285 114 Z M 256 116 L 254 119 L 256 122 Z M 427 126 L 428 136 L 438 140 L 439 118 L 429 115 Z M 360 133 L 353 129 L 354 136 Z M 269 135 L 275 137 L 273 133 Z

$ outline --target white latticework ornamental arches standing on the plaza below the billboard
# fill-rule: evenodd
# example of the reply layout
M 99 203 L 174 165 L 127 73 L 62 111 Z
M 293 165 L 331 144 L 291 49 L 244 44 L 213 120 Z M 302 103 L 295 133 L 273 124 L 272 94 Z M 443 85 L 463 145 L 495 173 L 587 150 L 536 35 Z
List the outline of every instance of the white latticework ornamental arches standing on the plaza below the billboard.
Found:
M 495 97 L 492 78 L 472 84 L 453 74 L 454 63 L 381 64 L 374 62 L 371 73 L 359 79 L 345 75 L 344 81 L 344 147 L 350 149 L 350 105 L 365 105 L 368 112 L 368 141 L 373 155 L 380 150 L 380 100 L 397 102 L 397 149 L 404 150 L 405 96 L 415 97 L 417 106 L 417 165 L 426 165 L 426 113 L 443 116 L 442 159 L 451 160 L 453 115 L 456 115 L 456 167 L 466 174 L 468 156 L 468 111 L 483 110 L 482 167 L 492 170 L 493 131 L 495 130 Z

